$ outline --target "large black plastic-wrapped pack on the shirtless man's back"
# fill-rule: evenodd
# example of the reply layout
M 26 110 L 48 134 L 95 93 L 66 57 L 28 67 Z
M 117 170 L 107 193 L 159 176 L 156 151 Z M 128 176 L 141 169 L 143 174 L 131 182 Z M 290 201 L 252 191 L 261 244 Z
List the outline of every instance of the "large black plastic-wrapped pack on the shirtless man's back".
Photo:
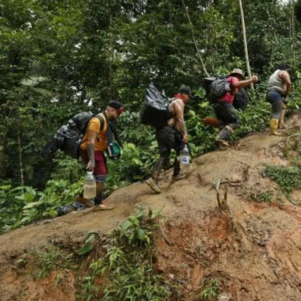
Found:
M 144 103 L 141 110 L 141 123 L 152 125 L 156 129 L 167 125 L 169 119 L 173 117 L 169 109 L 170 100 L 150 83 L 146 89 Z

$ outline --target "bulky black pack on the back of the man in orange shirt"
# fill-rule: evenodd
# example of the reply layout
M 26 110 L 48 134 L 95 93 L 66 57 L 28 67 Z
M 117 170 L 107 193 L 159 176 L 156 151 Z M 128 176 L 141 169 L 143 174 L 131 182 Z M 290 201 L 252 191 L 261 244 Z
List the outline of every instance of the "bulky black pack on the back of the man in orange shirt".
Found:
M 45 144 L 41 153 L 44 157 L 52 158 L 58 149 L 67 156 L 79 159 L 79 146 L 85 134 L 87 125 L 92 117 L 100 121 L 100 130 L 104 127 L 104 120 L 100 115 L 92 112 L 81 112 L 69 119 L 67 125 L 61 126 L 54 137 Z

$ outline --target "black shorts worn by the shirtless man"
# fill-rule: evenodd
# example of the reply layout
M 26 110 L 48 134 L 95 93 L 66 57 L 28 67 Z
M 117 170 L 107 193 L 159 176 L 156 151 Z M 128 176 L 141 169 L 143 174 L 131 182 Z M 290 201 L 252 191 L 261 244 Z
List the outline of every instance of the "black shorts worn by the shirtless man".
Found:
M 182 133 L 177 131 L 173 126 L 166 125 L 156 131 L 159 153 L 171 152 L 175 149 L 178 152 L 181 149 Z

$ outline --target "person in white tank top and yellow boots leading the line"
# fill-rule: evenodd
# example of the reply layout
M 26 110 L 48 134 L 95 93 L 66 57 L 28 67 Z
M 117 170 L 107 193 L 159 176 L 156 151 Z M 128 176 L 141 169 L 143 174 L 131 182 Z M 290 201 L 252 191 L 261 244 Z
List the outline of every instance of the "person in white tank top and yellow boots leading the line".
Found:
M 272 117 L 270 122 L 270 135 L 280 135 L 277 128 L 285 128 L 284 116 L 286 112 L 285 103 L 290 92 L 291 68 L 288 64 L 282 63 L 270 76 L 267 83 L 266 100 L 272 105 Z

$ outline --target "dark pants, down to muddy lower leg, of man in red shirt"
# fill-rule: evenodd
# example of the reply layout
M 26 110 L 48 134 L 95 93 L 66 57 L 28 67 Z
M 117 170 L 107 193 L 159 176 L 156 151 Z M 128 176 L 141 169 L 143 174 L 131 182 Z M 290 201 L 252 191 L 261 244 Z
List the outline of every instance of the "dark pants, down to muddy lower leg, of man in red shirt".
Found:
M 223 140 L 229 140 L 231 129 L 234 130 L 239 124 L 238 114 L 233 104 L 229 102 L 216 102 L 213 108 L 222 128 L 218 136 Z

